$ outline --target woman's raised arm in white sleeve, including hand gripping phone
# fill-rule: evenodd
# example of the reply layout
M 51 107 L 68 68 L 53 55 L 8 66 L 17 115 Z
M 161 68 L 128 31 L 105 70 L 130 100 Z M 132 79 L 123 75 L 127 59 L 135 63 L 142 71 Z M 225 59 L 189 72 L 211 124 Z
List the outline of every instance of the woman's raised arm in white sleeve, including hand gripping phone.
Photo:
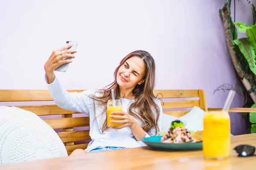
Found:
M 69 111 L 81 112 L 89 115 L 89 107 L 93 104 L 93 99 L 88 96 L 91 95 L 92 92 L 83 91 L 81 93 L 69 93 L 61 86 L 54 74 L 54 70 L 60 65 L 72 62 L 71 59 L 64 59 L 65 57 L 75 58 L 74 55 L 70 53 L 76 53 L 76 51 L 67 50 L 67 48 L 70 48 L 71 46 L 72 45 L 67 45 L 52 51 L 49 59 L 44 64 L 45 81 L 47 82 L 49 92 L 56 105 Z

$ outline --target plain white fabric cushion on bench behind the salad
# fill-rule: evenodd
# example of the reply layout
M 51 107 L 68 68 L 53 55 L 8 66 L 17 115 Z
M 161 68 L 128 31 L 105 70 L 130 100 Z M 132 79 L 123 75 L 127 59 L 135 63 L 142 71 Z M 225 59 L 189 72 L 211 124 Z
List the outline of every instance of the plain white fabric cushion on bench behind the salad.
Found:
M 162 121 L 162 130 L 163 132 L 167 132 L 171 127 L 172 121 L 180 120 L 181 122 L 185 123 L 185 127 L 188 130 L 198 131 L 204 130 L 203 119 L 204 119 L 204 110 L 195 106 L 192 108 L 189 113 L 186 113 L 184 116 L 175 117 L 172 115 L 163 114 L 163 121 Z

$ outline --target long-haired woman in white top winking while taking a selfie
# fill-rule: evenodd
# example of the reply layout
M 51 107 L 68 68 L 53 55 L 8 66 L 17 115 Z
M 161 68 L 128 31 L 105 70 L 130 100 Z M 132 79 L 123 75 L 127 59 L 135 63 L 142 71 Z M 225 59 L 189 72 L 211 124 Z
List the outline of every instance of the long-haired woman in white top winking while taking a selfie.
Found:
M 162 105 L 153 94 L 155 82 L 154 59 L 147 51 L 134 51 L 122 59 L 114 72 L 115 80 L 102 90 L 86 90 L 68 93 L 58 82 L 53 71 L 64 63 L 65 57 L 75 58 L 75 50 L 65 46 L 54 50 L 44 65 L 47 86 L 56 105 L 60 108 L 86 113 L 90 116 L 90 137 L 92 141 L 85 151 L 99 152 L 143 146 L 141 139 L 155 136 L 161 130 Z M 121 99 L 122 112 L 110 117 L 121 119 L 120 127 L 107 126 L 106 106 L 114 89 L 115 99 Z M 117 116 L 121 114 L 122 116 Z M 79 153 L 75 150 L 73 153 Z M 84 152 L 82 150 L 82 152 Z

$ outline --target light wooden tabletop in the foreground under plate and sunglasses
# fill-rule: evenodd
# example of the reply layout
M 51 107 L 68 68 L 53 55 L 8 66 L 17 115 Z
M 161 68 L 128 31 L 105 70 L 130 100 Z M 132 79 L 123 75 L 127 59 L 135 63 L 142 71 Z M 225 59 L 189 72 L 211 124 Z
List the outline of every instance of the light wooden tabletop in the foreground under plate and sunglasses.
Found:
M 231 136 L 232 148 L 239 144 L 256 145 L 256 133 Z M 156 151 L 149 147 L 84 153 L 57 159 L 1 165 L 0 170 L 254 170 L 256 156 L 204 160 L 199 151 Z

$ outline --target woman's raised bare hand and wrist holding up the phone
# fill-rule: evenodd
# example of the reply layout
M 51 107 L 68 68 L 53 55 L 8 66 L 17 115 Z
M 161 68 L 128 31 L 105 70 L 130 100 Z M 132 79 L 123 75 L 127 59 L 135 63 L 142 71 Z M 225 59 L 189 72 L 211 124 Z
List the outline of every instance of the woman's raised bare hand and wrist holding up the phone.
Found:
M 65 57 L 75 58 L 73 54 L 76 53 L 76 50 L 67 50 L 72 45 L 67 45 L 56 50 L 52 51 L 47 62 L 44 64 L 44 70 L 47 76 L 47 82 L 50 84 L 54 81 L 55 75 L 53 71 L 58 68 L 60 65 L 72 62 L 72 59 L 64 59 Z

